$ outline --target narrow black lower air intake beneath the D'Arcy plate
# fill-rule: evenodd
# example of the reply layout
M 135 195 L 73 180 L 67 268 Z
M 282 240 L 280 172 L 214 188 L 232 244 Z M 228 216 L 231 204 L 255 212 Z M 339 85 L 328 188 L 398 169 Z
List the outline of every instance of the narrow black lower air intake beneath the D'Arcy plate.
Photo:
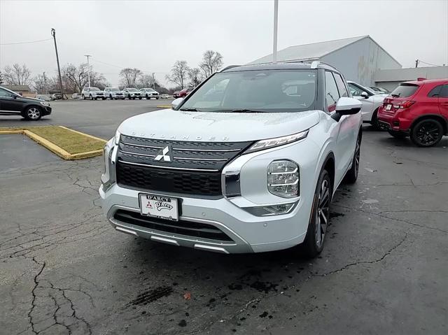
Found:
M 211 224 L 186 220 L 169 221 L 159 218 L 151 218 L 141 215 L 140 213 L 124 210 L 118 210 L 115 215 L 113 215 L 113 218 L 121 222 L 168 233 L 208 238 L 215 241 L 232 241 L 232 238 Z

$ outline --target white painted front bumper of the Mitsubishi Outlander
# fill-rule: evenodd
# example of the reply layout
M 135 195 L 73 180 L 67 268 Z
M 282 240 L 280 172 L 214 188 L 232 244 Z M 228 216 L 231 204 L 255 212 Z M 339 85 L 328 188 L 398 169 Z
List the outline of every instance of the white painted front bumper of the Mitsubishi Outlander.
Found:
M 109 146 L 111 145 L 111 146 Z M 313 141 L 302 141 L 283 147 L 242 155 L 223 170 L 240 171 L 241 194 L 235 197 L 189 197 L 184 194 L 161 194 L 152 190 L 132 190 L 116 183 L 113 157 L 116 146 L 106 145 L 106 172 L 99 188 L 106 218 L 118 231 L 172 245 L 223 253 L 266 252 L 293 247 L 304 241 L 309 224 L 313 194 L 316 187 L 318 148 Z M 303 152 L 316 152 L 303 155 Z M 112 157 L 112 159 L 111 159 Z M 267 166 L 274 160 L 288 157 L 300 165 L 301 197 L 285 199 L 267 191 Z M 263 183 L 260 183 L 263 180 Z M 223 182 L 225 183 L 225 182 Z M 223 188 L 225 190 L 225 187 Z M 167 195 L 181 199 L 179 220 L 209 224 L 220 229 L 231 241 L 186 236 L 131 224 L 114 218 L 117 211 L 140 213 L 139 193 Z M 225 191 L 224 191 L 225 192 Z M 288 213 L 269 216 L 253 215 L 248 208 L 285 204 L 295 205 Z M 168 222 L 167 222 L 168 223 Z

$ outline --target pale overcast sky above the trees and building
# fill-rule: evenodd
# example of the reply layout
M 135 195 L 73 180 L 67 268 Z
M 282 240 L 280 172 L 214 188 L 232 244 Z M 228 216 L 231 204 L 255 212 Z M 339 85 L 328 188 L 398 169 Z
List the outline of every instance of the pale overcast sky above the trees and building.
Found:
M 54 75 L 52 41 L 5 43 L 51 38 L 55 28 L 61 66 L 90 54 L 94 70 L 112 85 L 127 66 L 155 72 L 165 83 L 177 59 L 197 66 L 205 50 L 221 52 L 225 65 L 271 53 L 273 8 L 273 0 L 0 0 L 0 67 L 18 62 L 34 75 Z M 279 0 L 279 50 L 361 35 L 372 36 L 403 67 L 415 59 L 448 64 L 448 0 Z

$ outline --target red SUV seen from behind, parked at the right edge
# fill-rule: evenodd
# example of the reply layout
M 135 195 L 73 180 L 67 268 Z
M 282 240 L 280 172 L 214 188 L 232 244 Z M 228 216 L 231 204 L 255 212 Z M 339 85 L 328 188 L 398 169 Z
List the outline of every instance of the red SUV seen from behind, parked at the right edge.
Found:
M 420 147 L 448 135 L 448 79 L 401 83 L 379 108 L 381 127 L 396 138 L 410 136 Z

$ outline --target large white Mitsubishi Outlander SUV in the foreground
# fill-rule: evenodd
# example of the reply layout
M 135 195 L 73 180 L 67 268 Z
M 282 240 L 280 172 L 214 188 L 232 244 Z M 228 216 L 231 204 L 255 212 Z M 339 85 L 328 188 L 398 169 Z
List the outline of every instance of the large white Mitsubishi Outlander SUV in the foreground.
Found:
M 219 90 L 216 89 L 219 87 Z M 358 176 L 361 104 L 327 64 L 230 66 L 104 148 L 112 226 L 214 252 L 323 249 L 330 202 Z

